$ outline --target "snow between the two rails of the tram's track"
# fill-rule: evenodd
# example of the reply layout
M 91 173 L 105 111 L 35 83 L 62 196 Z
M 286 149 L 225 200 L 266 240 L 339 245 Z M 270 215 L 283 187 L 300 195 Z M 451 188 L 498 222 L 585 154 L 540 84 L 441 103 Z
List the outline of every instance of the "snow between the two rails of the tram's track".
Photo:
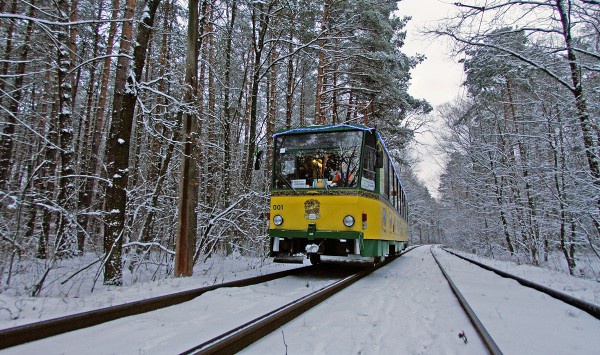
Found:
M 11 354 L 178 354 L 331 283 L 289 276 L 7 349 Z

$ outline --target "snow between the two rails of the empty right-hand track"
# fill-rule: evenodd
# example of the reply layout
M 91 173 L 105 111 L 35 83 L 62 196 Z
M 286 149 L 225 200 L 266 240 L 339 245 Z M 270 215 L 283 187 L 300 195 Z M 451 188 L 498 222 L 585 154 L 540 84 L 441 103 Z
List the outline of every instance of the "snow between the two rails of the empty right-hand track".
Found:
M 590 314 L 440 248 L 434 252 L 505 354 L 598 353 L 600 321 Z

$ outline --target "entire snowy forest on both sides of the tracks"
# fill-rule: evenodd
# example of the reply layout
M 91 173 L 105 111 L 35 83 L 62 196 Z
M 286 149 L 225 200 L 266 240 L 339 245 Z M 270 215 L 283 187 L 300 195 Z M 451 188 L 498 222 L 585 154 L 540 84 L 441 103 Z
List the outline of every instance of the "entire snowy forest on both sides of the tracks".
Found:
M 266 257 L 273 134 L 334 123 L 386 139 L 412 243 L 534 265 L 559 253 L 589 274 L 600 5 L 481 3 L 424 34 L 453 41 L 467 92 L 438 109 L 434 199 L 410 154 L 433 108 L 407 93 L 425 58 L 401 50 L 402 2 L 2 0 L 0 290 L 33 269 L 37 296 L 73 258 L 119 286 L 142 267 Z

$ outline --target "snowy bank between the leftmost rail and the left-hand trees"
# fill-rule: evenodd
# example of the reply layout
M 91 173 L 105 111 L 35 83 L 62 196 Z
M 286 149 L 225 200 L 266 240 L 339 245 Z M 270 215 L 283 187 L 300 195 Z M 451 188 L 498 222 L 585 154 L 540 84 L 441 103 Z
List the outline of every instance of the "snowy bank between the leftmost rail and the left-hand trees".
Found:
M 33 284 L 33 277 L 27 273 L 13 277 L 12 284 L 16 286 L 0 293 L 0 329 L 302 266 L 275 264 L 269 259 L 237 254 L 227 257 L 216 255 L 206 263 L 196 265 L 192 277 L 163 276 L 151 281 L 155 270 L 149 268 L 147 272 L 138 270 L 137 274 L 145 277 L 145 281 L 134 283 L 125 270 L 125 286 L 114 287 L 102 285 L 101 275 L 100 280 L 94 282 L 97 267 L 61 285 L 83 265 L 88 265 L 89 260 L 76 258 L 61 262 L 62 265 L 48 276 L 43 297 L 30 297 L 25 286 L 19 287 Z M 30 263 L 27 267 L 35 268 Z

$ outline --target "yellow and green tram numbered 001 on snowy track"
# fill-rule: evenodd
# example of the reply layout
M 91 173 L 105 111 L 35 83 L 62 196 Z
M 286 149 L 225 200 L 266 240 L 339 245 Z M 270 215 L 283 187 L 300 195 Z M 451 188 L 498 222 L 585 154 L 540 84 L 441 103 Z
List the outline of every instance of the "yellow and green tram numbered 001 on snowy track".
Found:
M 406 195 L 379 133 L 354 124 L 276 133 L 269 237 L 276 262 L 379 262 L 405 249 Z

